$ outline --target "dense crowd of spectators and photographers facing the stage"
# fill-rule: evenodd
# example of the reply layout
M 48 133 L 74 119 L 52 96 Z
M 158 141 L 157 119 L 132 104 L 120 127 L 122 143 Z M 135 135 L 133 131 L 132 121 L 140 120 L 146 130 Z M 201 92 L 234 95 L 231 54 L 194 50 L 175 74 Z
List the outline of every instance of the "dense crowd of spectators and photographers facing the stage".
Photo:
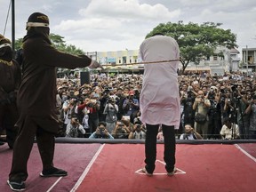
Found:
M 186 124 L 204 140 L 256 138 L 256 84 L 253 74 L 247 76 L 234 72 L 211 76 L 204 71 L 187 73 L 179 76 L 179 84 L 181 121 L 176 138 L 185 133 Z M 140 74 L 92 74 L 91 83 L 82 86 L 76 78 L 66 76 L 58 79 L 57 107 L 63 122 L 59 136 L 68 135 L 66 126 L 71 116 L 76 116 L 85 130 L 79 137 L 89 138 L 96 132 L 98 124 L 105 122 L 108 134 L 115 135 L 115 139 L 144 139 L 146 128 L 140 122 L 141 85 Z M 225 133 L 221 129 L 226 127 L 227 121 L 232 126 L 229 127 L 230 132 Z M 123 129 L 117 129 L 121 123 Z M 139 130 L 141 133 L 136 134 Z M 131 137 L 131 132 L 140 136 Z M 102 138 L 100 135 L 97 137 Z

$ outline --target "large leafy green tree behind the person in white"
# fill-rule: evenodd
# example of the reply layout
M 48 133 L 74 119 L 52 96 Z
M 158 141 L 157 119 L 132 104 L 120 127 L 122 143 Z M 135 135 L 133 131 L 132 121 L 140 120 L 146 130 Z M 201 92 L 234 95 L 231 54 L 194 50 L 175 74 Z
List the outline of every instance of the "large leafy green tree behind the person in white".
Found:
M 204 22 L 199 25 L 189 22 L 184 24 L 182 20 L 178 23 L 160 23 L 146 38 L 155 33 L 163 33 L 172 36 L 180 46 L 180 62 L 182 72 L 188 67 L 188 63 L 198 64 L 203 58 L 210 57 L 218 46 L 228 49 L 237 47 L 236 35 L 230 29 L 220 28 L 221 23 Z M 219 55 L 223 55 L 222 52 Z

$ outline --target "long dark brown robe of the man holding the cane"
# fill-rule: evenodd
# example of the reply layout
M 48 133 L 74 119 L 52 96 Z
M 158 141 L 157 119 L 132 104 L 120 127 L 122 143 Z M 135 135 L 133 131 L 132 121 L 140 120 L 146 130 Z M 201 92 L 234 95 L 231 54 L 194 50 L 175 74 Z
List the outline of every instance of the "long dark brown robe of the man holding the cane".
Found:
M 57 132 L 56 67 L 84 68 L 91 64 L 87 57 L 59 52 L 44 38 L 28 38 L 23 44 L 23 76 L 18 92 L 21 127 L 30 119 L 47 132 Z

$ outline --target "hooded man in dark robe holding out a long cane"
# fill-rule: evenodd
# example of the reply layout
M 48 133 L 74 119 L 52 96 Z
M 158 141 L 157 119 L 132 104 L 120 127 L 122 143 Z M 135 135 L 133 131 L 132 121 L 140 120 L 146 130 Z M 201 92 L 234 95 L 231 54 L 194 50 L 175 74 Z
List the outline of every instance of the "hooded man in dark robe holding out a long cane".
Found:
M 12 190 L 24 190 L 28 178 L 28 157 L 36 136 L 43 163 L 41 177 L 60 177 L 68 172 L 53 165 L 55 139 L 59 122 L 56 108 L 56 67 L 101 68 L 87 56 L 59 52 L 49 39 L 49 19 L 40 12 L 28 18 L 27 35 L 23 38 L 23 76 L 18 92 L 19 135 L 13 146 L 12 169 L 7 180 Z

